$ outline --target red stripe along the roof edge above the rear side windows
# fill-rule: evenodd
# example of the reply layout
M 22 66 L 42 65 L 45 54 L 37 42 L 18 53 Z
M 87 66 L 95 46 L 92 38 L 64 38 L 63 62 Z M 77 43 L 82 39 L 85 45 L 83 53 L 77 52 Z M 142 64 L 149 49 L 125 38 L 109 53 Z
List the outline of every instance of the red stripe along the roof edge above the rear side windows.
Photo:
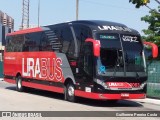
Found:
M 40 32 L 40 31 L 42 31 L 41 27 L 30 28 L 30 29 L 19 30 L 19 31 L 16 31 L 16 32 L 8 33 L 7 36 L 20 35 L 20 34 L 32 33 L 32 32 Z

